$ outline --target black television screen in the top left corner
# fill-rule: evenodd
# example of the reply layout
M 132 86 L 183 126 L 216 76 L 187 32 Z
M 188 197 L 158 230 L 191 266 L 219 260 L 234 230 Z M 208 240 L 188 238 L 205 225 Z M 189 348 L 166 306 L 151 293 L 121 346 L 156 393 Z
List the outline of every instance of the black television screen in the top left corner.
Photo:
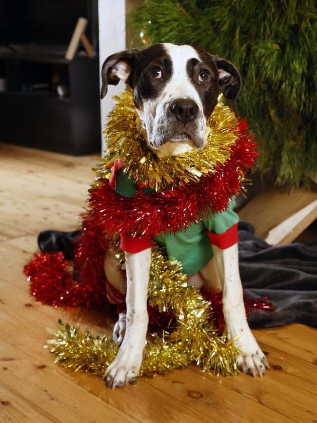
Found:
M 88 4 L 89 0 L 0 0 L 0 45 L 68 44 L 78 18 L 88 18 Z

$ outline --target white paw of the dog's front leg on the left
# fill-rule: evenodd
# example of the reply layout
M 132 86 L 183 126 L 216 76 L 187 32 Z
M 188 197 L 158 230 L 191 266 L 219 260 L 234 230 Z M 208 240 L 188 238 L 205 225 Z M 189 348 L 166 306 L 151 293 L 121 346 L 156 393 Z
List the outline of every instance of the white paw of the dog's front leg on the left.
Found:
M 136 379 L 141 363 L 142 350 L 131 351 L 128 346 L 121 346 L 117 357 L 104 372 L 103 379 L 106 380 L 107 387 L 115 389 L 116 386 L 124 386 Z

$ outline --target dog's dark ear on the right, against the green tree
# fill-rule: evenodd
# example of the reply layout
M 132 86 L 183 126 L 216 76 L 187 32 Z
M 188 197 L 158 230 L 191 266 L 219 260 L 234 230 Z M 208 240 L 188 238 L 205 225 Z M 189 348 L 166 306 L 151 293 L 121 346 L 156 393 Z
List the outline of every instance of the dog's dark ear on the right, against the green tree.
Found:
M 241 75 L 230 61 L 219 56 L 214 56 L 219 73 L 219 88 L 226 99 L 233 100 L 236 103 L 240 88 Z

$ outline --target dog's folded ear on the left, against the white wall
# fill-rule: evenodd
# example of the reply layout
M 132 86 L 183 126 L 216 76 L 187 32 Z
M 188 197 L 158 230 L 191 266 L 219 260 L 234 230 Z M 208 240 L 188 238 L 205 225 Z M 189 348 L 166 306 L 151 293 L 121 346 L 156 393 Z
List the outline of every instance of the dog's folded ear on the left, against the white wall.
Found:
M 120 51 L 109 56 L 103 62 L 101 69 L 101 99 L 107 94 L 108 85 L 118 85 L 121 80 L 132 86 L 133 69 L 140 51 L 136 48 Z

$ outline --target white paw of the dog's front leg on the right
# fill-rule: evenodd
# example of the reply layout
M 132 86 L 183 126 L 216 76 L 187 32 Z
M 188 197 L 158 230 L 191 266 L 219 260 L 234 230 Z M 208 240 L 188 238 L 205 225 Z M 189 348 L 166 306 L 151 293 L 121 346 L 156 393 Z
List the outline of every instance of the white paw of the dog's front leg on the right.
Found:
M 241 336 L 234 344 L 238 346 L 241 352 L 237 359 L 238 368 L 243 373 L 248 373 L 254 378 L 256 376 L 261 378 L 265 374 L 266 369 L 270 368 L 270 365 L 252 332 L 250 331 L 249 334 Z

